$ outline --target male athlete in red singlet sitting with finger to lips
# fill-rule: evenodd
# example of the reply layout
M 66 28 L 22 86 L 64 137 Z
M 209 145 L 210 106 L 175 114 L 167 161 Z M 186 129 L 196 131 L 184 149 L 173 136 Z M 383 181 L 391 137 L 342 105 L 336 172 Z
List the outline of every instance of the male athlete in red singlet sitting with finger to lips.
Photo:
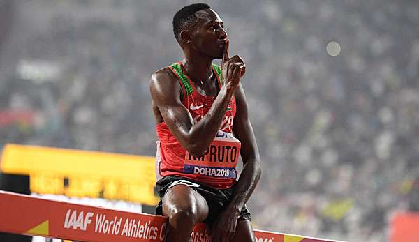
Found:
M 184 59 L 149 82 L 163 176 L 156 213 L 169 218 L 170 242 L 189 241 L 198 222 L 212 228 L 212 241 L 254 241 L 245 204 L 260 160 L 240 85 L 244 61 L 228 56 L 223 21 L 206 4 L 179 10 L 173 31 Z M 239 154 L 244 168 L 236 181 Z

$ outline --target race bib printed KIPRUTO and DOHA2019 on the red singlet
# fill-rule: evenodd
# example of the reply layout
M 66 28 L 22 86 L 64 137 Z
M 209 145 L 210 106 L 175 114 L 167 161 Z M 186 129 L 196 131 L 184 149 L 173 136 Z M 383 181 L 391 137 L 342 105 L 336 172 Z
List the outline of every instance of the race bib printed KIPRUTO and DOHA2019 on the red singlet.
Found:
M 197 158 L 186 151 L 183 172 L 234 179 L 240 146 L 240 141 L 231 133 L 219 130 L 204 156 Z

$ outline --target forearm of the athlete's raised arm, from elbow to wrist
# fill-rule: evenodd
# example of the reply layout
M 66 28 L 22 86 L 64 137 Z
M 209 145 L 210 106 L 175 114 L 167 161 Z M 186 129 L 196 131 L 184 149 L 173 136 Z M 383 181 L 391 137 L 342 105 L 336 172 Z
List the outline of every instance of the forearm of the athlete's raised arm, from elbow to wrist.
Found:
M 203 116 L 198 123 L 194 123 L 188 133 L 189 144 L 193 153 L 203 154 L 214 139 L 216 133 L 221 127 L 226 109 L 233 96 L 230 91 L 223 86 L 219 95 L 214 100 L 211 109 Z

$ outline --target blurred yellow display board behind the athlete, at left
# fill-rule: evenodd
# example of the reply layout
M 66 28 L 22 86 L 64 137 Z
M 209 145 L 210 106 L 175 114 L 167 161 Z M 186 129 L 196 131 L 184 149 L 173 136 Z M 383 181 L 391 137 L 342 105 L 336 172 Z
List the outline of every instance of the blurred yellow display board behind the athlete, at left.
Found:
M 31 177 L 31 192 L 155 205 L 154 157 L 7 144 L 3 173 Z

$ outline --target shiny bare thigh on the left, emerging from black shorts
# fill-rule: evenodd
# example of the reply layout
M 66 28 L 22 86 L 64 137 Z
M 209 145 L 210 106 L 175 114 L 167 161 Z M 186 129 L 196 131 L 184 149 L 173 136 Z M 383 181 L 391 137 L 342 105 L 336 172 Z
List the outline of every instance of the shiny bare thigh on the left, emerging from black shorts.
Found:
M 198 222 L 208 216 L 208 204 L 205 198 L 196 190 L 186 185 L 176 185 L 170 188 L 161 199 L 163 215 L 169 216 L 176 211 L 189 211 L 196 214 Z

